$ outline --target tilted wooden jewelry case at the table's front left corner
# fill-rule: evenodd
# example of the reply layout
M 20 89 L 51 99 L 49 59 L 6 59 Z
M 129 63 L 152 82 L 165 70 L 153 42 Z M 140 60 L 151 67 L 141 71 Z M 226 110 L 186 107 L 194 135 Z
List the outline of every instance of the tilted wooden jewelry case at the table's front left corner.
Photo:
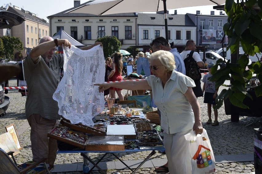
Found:
M 73 146 L 80 147 L 82 149 L 85 148 L 89 138 L 87 135 L 80 134 L 62 127 L 55 127 L 47 134 L 47 136 Z

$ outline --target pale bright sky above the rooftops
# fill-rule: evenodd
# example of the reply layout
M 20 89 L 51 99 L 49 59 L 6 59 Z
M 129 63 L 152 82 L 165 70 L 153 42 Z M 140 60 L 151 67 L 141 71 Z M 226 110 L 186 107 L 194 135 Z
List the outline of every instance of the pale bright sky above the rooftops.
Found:
M 88 0 L 80 1 L 80 3 L 85 3 Z M 66 9 L 72 8 L 74 6 L 73 0 L 45 0 L 45 1 L 33 1 L 33 0 L 10 0 L 12 6 L 18 6 L 24 10 L 30 11 L 38 15 L 38 17 L 43 18 L 48 21 L 47 16 L 59 13 Z M 4 6 L 8 1 L 0 4 Z M 213 6 L 198 6 L 198 7 L 187 7 L 177 9 L 177 14 L 193 13 L 196 14 L 196 10 L 200 10 L 202 14 L 210 14 L 210 11 L 215 11 L 215 14 L 219 15 L 218 10 L 214 10 Z M 169 12 L 174 13 L 174 10 L 169 10 Z M 224 12 L 223 12 L 224 13 Z

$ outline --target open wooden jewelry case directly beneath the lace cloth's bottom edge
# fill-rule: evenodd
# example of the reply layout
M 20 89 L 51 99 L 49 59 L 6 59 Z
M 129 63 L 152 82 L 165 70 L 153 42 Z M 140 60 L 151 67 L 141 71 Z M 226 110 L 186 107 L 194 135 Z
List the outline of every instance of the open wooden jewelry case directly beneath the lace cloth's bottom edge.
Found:
M 91 134 L 91 135 L 105 135 L 106 134 L 106 130 L 105 130 L 105 127 L 101 127 L 99 126 L 98 124 L 99 123 L 95 123 L 94 126 L 85 126 L 83 124 L 72 124 L 70 122 L 70 120 L 68 119 L 65 119 L 62 117 L 60 123 L 66 127 L 69 127 L 73 130 L 78 130 L 80 132 L 83 132 L 83 133 L 88 133 L 88 134 Z M 104 122 L 106 123 L 106 122 Z M 102 122 L 101 122 L 102 124 Z M 103 124 L 104 125 L 104 124 Z

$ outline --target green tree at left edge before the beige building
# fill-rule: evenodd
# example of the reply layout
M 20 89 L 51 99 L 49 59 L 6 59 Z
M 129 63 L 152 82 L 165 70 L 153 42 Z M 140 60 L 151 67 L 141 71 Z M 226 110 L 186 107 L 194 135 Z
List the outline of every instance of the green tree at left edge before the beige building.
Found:
M 0 36 L 0 40 L 3 43 L 3 48 L 0 46 L 0 57 L 10 59 L 10 57 L 14 57 L 15 50 L 21 54 L 23 44 L 19 37 Z

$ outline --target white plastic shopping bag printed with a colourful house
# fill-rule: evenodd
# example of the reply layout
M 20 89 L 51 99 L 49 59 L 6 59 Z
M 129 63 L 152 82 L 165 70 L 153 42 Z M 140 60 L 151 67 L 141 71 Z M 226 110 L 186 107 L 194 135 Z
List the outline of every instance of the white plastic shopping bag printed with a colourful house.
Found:
M 195 131 L 192 130 L 185 135 L 185 139 L 189 141 L 192 174 L 215 173 L 216 162 L 207 131 L 203 129 L 201 135 L 196 135 Z

